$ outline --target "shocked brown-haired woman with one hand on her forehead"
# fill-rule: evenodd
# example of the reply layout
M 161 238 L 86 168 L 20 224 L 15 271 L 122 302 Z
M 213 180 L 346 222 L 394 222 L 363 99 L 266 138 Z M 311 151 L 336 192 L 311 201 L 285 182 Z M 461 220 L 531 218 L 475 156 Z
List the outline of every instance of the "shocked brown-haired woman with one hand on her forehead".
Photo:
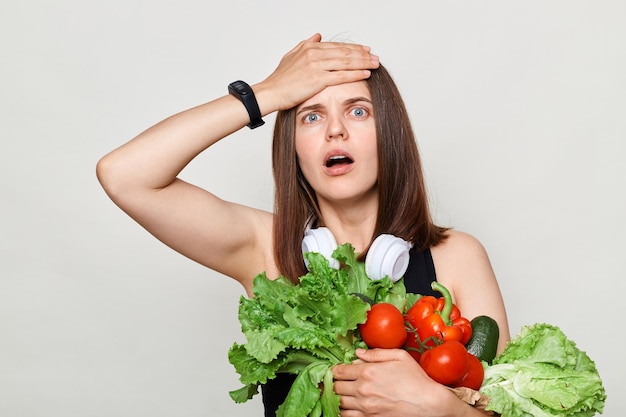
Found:
M 294 280 L 304 273 L 307 225 L 325 226 L 363 256 L 376 236 L 394 234 L 414 247 L 407 275 L 418 278 L 411 290 L 426 292 L 436 271 L 466 317 L 497 320 L 502 349 L 509 331 L 487 255 L 471 236 L 430 219 L 408 116 L 378 57 L 365 46 L 321 42 L 316 34 L 247 95 L 241 87 L 103 157 L 98 178 L 113 201 L 168 246 L 239 281 L 248 295 L 261 271 Z M 205 149 L 275 111 L 275 213 L 221 200 L 177 178 Z M 371 350 L 359 358 L 333 371 L 344 417 L 481 415 L 403 350 Z M 268 415 L 281 388 L 264 392 Z

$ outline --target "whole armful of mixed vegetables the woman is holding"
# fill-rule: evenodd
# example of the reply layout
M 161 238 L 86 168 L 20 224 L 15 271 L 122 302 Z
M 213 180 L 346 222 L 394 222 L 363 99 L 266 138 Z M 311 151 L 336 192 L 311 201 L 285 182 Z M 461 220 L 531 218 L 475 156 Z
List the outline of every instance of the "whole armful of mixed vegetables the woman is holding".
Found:
M 402 280 L 370 280 L 350 244 L 333 253 L 339 270 L 318 253 L 305 257 L 310 272 L 298 285 L 260 274 L 254 297 L 240 300 L 246 343 L 233 344 L 228 356 L 244 386 L 231 391 L 234 401 L 286 372 L 297 377 L 279 417 L 338 415 L 333 366 L 353 362 L 357 348 L 403 348 L 431 378 L 479 392 L 486 410 L 502 416 L 602 412 L 606 393 L 595 364 L 558 328 L 525 327 L 495 357 L 496 322 L 468 321 L 441 284 L 433 283 L 442 294 L 436 298 L 407 293 Z

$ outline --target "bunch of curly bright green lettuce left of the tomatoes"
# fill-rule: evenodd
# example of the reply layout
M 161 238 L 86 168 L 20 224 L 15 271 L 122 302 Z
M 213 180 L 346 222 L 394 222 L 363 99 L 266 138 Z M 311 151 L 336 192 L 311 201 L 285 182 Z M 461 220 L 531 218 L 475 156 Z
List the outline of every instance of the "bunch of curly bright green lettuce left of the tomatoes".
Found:
M 307 253 L 310 272 L 298 285 L 262 273 L 254 279 L 254 297 L 241 297 L 239 321 L 246 343 L 235 343 L 228 352 L 244 384 L 230 392 L 234 401 L 249 400 L 260 384 L 287 372 L 297 377 L 278 417 L 338 415 L 331 369 L 353 362 L 356 348 L 366 347 L 356 330 L 367 318 L 368 301 L 405 311 L 419 298 L 406 293 L 402 280 L 370 280 L 349 243 L 339 245 L 333 257 L 341 269 L 331 268 L 319 253 Z

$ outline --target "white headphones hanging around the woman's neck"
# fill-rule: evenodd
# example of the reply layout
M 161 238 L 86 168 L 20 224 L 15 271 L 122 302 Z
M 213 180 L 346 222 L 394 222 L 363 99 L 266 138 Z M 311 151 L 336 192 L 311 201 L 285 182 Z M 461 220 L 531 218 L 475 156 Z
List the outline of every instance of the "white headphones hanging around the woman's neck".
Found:
M 337 241 L 327 227 L 308 228 L 302 239 L 302 253 L 319 252 L 328 259 L 331 268 L 339 269 L 339 261 L 332 257 Z M 393 235 L 382 234 L 372 242 L 365 258 L 365 273 L 370 279 L 388 276 L 396 282 L 404 276 L 409 266 L 412 245 Z M 305 260 L 306 263 L 306 260 Z

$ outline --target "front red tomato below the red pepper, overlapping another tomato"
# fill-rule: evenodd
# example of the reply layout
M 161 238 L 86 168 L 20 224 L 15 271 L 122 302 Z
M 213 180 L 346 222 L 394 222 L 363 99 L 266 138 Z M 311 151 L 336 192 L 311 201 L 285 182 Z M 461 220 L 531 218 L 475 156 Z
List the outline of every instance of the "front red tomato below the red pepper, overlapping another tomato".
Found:
M 422 353 L 420 365 L 435 381 L 454 386 L 469 369 L 467 349 L 461 342 L 450 340 Z

